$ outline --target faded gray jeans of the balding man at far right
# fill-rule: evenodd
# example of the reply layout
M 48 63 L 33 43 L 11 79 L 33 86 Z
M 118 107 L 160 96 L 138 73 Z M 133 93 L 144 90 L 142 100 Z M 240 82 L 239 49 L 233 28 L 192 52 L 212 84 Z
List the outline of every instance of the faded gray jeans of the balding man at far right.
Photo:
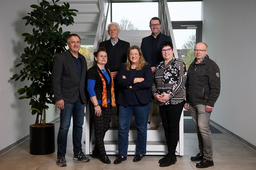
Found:
M 191 117 L 195 123 L 198 136 L 198 147 L 204 158 L 212 161 L 212 133 L 209 127 L 211 113 L 207 113 L 206 105 L 189 105 Z

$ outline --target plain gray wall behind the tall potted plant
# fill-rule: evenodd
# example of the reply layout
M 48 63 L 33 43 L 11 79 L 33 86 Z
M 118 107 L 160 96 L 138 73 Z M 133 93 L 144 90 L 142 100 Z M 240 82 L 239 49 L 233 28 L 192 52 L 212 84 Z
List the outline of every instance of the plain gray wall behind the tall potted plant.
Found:
M 24 32 L 31 33 L 25 27 L 23 17 L 32 11 L 30 5 L 38 4 L 37 0 L 2 0 L 0 3 L 0 150 L 11 146 L 29 135 L 29 125 L 35 123 L 35 116 L 29 111 L 29 99 L 19 100 L 16 92 L 27 82 L 10 81 L 13 74 L 19 73 L 21 67 L 15 68 L 20 55 L 26 47 Z M 55 107 L 49 106 L 47 122 L 58 117 Z

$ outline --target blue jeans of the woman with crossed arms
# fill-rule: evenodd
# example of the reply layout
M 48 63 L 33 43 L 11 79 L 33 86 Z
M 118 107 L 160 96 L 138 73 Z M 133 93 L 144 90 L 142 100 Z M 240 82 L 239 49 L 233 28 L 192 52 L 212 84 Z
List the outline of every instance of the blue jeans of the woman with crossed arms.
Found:
M 127 156 L 129 129 L 133 115 L 135 116 L 137 128 L 136 153 L 145 154 L 147 144 L 147 124 L 151 102 L 145 105 L 127 107 L 119 106 L 118 116 L 118 155 Z

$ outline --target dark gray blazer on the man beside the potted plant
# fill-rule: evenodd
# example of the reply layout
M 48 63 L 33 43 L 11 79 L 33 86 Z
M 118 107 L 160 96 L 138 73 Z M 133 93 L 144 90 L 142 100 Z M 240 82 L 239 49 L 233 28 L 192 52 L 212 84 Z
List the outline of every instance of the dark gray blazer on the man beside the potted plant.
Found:
M 86 103 L 87 63 L 83 55 L 79 54 L 79 57 L 81 57 L 82 63 L 81 79 L 69 50 L 56 56 L 52 69 L 52 88 L 55 101 L 63 99 L 64 103 L 75 103 L 80 92 L 81 99 Z

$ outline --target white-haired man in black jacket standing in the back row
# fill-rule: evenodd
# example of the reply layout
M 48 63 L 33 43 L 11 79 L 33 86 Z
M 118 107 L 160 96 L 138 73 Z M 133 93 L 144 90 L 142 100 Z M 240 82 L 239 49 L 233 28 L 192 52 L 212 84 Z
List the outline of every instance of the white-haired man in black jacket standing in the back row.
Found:
M 105 47 L 108 53 L 108 62 L 105 65 L 105 68 L 108 68 L 111 71 L 111 75 L 114 79 L 114 89 L 116 100 L 118 96 L 118 85 L 116 83 L 116 76 L 118 74 L 120 65 L 125 63 L 127 60 L 128 49 L 130 48 L 130 43 L 120 40 L 118 34 L 121 29 L 118 23 L 112 22 L 108 24 L 108 34 L 110 36 L 109 40 L 99 43 L 99 47 Z M 117 116 L 118 116 L 118 105 L 116 105 Z

